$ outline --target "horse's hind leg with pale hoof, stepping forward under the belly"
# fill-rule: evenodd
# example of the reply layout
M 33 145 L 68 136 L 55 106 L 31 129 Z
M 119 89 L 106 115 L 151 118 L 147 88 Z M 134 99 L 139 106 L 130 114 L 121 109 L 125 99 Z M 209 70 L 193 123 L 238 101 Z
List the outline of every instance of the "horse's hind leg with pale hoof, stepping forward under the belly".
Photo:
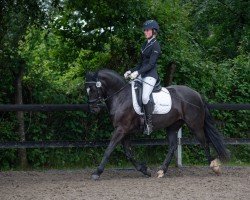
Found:
M 168 142 L 169 142 L 168 154 L 160 170 L 158 170 L 157 172 L 158 178 L 162 178 L 168 170 L 169 164 L 174 156 L 174 152 L 177 149 L 177 132 L 181 128 L 182 125 L 183 125 L 183 121 L 180 120 L 167 128 Z

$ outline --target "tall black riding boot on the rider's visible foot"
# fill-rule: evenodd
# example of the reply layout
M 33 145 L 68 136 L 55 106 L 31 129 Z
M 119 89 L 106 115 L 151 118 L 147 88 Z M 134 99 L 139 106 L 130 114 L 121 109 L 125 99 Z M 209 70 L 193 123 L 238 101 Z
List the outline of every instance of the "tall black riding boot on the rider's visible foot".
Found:
M 147 104 L 144 104 L 144 115 L 146 119 L 144 133 L 149 135 L 153 131 L 152 125 L 152 112 L 154 110 L 154 104 L 149 101 Z

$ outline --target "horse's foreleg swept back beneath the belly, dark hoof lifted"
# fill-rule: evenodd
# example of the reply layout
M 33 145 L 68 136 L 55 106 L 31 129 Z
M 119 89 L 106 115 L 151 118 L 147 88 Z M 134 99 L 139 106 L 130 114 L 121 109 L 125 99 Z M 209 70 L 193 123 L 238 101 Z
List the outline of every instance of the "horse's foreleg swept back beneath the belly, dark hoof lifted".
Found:
M 148 167 L 144 163 L 139 163 L 138 161 L 135 160 L 132 149 L 131 149 L 131 144 L 130 144 L 130 139 L 129 138 L 124 138 L 122 141 L 122 145 L 124 147 L 124 151 L 126 154 L 127 159 L 135 166 L 135 168 L 142 172 L 144 175 L 151 176 L 151 173 L 148 170 Z

